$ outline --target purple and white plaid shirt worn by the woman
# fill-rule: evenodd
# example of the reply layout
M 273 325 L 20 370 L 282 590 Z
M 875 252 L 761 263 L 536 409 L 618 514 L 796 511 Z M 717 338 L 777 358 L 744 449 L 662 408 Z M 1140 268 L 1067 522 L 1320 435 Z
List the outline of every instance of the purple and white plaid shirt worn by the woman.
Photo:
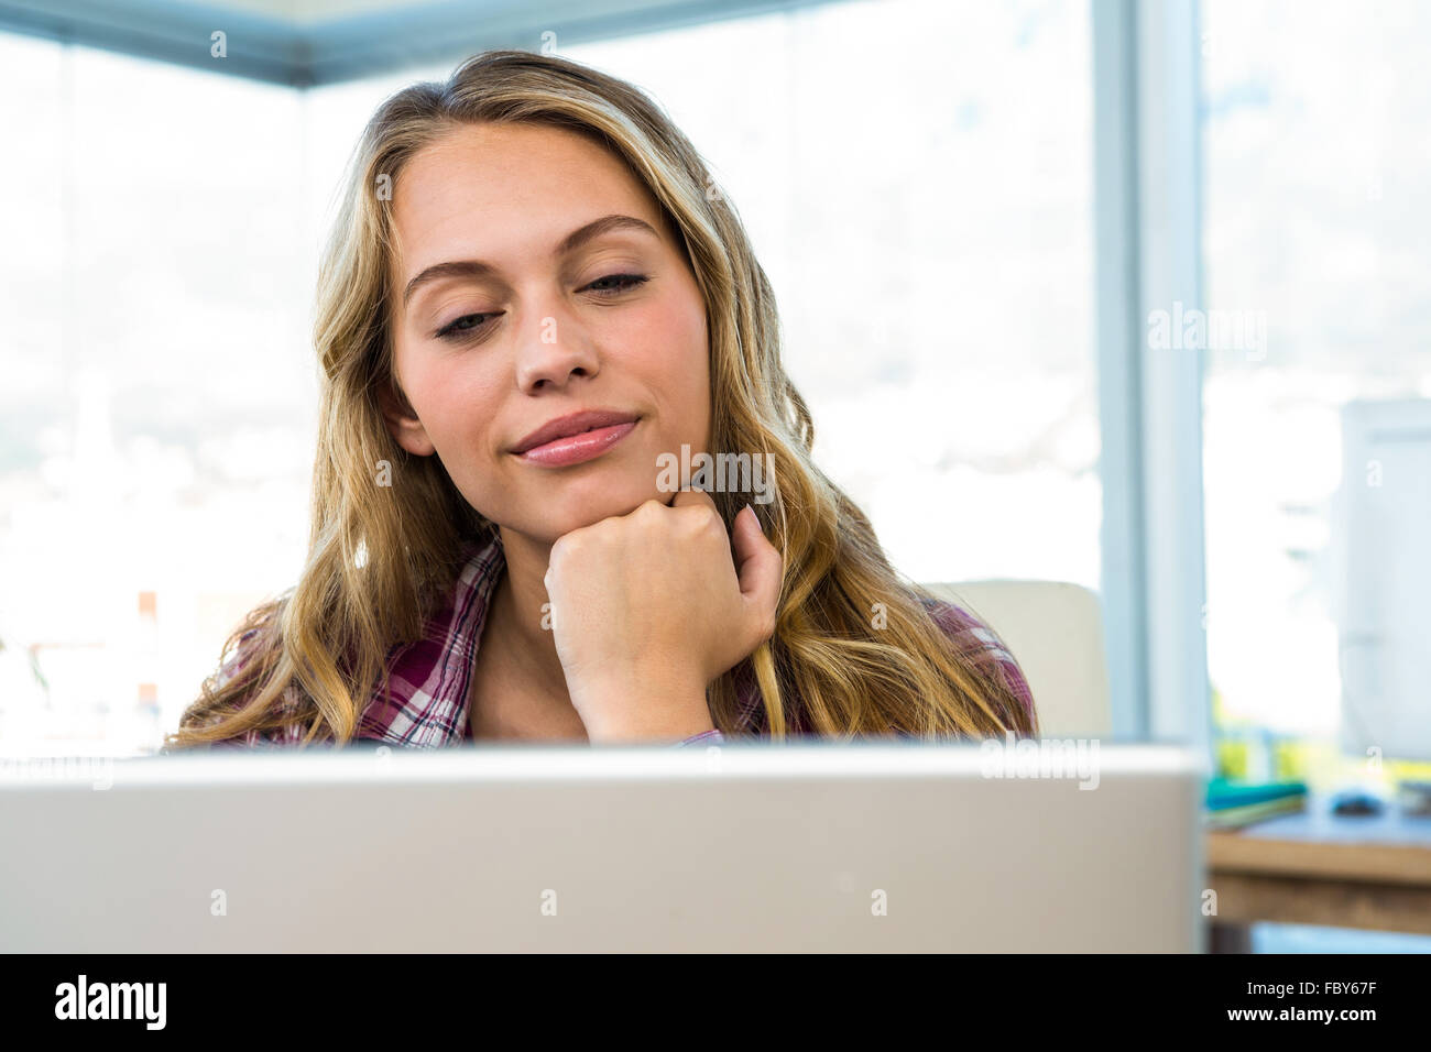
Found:
M 478 640 L 487 623 L 488 604 L 505 565 L 499 537 L 472 547 L 472 555 L 462 567 L 451 594 L 428 618 L 422 638 L 389 651 L 388 690 L 373 691 L 359 720 L 356 739 L 409 749 L 439 749 L 472 740 L 468 721 L 472 668 Z M 1032 716 L 1033 696 L 1027 680 L 997 637 L 969 611 L 952 603 L 930 604 L 929 610 L 957 648 L 1002 674 L 1003 681 Z M 232 676 L 230 668 L 232 663 L 225 666 L 219 677 L 220 684 Z M 764 727 L 766 711 L 760 687 L 748 660 L 737 666 L 736 684 L 740 698 L 736 730 L 743 734 L 768 734 Z M 798 704 L 790 706 L 787 721 L 788 733 L 810 733 L 801 723 Z M 302 727 L 292 724 L 283 730 L 262 733 L 252 730 L 243 739 L 218 744 L 258 749 L 292 746 L 302 740 Z M 720 730 L 708 730 L 675 746 L 716 744 L 724 740 Z

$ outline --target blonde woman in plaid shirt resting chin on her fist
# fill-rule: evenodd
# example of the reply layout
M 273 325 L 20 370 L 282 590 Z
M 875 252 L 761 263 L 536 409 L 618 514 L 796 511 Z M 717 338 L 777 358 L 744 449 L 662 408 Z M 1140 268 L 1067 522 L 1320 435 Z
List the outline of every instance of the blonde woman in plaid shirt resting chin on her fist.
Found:
M 1013 658 L 811 462 L 766 273 L 633 86 L 488 52 L 388 99 L 315 342 L 308 564 L 165 751 L 1036 733 Z

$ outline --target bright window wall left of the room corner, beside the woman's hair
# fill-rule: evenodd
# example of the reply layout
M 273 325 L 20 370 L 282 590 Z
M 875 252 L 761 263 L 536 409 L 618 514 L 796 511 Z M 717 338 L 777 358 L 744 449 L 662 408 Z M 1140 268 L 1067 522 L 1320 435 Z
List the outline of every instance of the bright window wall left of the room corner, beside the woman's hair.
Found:
M 0 737 L 132 753 L 306 542 L 293 92 L 0 37 Z

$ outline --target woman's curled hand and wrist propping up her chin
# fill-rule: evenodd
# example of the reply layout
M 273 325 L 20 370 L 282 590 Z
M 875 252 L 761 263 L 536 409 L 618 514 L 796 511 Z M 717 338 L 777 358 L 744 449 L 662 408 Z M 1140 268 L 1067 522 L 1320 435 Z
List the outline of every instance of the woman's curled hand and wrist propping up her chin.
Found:
M 547 595 L 588 739 L 711 730 L 705 686 L 774 634 L 781 571 L 756 512 L 743 508 L 727 537 L 701 490 L 558 537 Z

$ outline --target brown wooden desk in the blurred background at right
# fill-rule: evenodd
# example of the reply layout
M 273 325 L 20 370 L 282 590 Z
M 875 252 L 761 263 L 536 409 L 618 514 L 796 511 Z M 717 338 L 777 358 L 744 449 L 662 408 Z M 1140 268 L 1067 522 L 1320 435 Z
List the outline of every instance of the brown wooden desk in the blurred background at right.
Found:
M 1209 830 L 1206 860 L 1212 952 L 1249 952 L 1264 920 L 1431 935 L 1431 816 L 1334 816 L 1311 796 L 1301 814 Z

